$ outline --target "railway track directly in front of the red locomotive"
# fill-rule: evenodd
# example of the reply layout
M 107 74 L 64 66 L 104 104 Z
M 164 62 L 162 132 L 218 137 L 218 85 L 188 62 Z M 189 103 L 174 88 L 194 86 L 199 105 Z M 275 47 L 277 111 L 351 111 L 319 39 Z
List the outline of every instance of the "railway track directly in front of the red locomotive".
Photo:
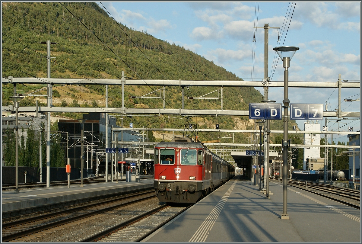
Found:
M 172 219 L 176 218 L 176 216 L 180 215 L 191 206 L 192 204 L 187 207 L 171 207 L 167 204 L 163 204 L 160 207 L 136 216 L 117 226 L 113 226 L 95 235 L 89 236 L 81 240 L 81 242 L 139 242 Z

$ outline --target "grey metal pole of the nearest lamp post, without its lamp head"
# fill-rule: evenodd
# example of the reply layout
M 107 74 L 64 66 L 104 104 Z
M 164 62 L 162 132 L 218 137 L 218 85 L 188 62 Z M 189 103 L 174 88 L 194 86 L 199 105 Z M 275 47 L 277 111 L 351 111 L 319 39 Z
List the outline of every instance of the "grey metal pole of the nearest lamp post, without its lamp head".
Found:
M 282 219 L 289 219 L 287 214 L 287 191 L 288 191 L 288 107 L 289 107 L 289 99 L 288 99 L 288 82 L 289 82 L 289 71 L 288 67 L 290 67 L 290 58 L 283 57 L 283 67 L 284 67 L 284 100 L 283 100 L 283 108 L 284 108 L 284 116 L 283 116 L 283 213 Z M 287 106 L 285 106 L 287 104 Z

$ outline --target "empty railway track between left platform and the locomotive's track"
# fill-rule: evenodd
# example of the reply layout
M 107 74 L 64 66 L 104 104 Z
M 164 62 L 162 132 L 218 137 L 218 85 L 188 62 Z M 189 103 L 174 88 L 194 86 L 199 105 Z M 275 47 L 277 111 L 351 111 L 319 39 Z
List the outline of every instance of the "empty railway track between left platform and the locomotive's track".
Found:
M 133 198 L 133 200 L 131 200 Z M 136 198 L 136 199 L 135 199 Z M 39 216 L 7 222 L 3 219 L 2 241 L 12 241 L 19 238 L 46 231 L 47 229 L 62 226 L 86 219 L 93 215 L 99 215 L 115 208 L 122 208 L 130 204 L 155 198 L 154 191 L 139 193 L 136 195 L 112 199 L 105 202 L 93 203 L 86 206 L 70 208 L 49 214 L 39 214 Z

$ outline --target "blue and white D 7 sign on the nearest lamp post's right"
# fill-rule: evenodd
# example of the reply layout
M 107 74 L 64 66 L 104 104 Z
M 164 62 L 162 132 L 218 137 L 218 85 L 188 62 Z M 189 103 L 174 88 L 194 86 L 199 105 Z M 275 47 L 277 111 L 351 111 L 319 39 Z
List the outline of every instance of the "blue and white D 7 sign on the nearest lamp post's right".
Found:
M 323 104 L 290 104 L 291 120 L 323 120 Z

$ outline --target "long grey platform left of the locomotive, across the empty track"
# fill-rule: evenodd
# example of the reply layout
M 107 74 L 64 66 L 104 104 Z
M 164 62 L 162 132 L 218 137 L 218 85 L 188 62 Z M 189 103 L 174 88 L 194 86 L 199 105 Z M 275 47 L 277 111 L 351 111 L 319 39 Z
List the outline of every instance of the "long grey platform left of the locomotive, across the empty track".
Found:
M 141 179 L 138 182 L 116 181 L 107 183 L 84 183 L 83 187 L 79 185 L 68 186 L 51 186 L 48 188 L 20 189 L 19 193 L 14 191 L 2 191 L 1 211 L 3 218 L 7 213 L 14 211 L 23 211 L 29 208 L 48 209 L 55 206 L 67 206 L 70 204 L 80 203 L 83 200 L 97 200 L 105 196 L 119 195 L 127 191 L 143 191 L 154 188 L 153 178 Z M 7 217 L 5 217 L 7 218 Z

